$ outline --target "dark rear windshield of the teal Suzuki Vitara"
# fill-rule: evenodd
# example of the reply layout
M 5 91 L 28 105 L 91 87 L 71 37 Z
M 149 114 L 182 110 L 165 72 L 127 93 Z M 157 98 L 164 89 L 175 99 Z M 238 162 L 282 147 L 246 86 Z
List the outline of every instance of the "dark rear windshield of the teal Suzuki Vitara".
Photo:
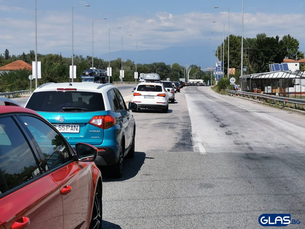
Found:
M 43 112 L 80 112 L 80 110 L 84 112 L 105 111 L 104 100 L 101 93 L 76 91 L 35 92 L 30 97 L 26 107 L 34 111 Z

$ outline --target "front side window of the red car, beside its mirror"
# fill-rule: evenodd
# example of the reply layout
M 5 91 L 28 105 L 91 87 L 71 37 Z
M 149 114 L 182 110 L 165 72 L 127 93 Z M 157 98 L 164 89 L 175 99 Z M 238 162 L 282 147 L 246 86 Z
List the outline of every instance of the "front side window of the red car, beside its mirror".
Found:
M 43 170 L 54 169 L 72 159 L 64 138 L 51 126 L 31 116 L 20 116 L 20 118 L 39 146 L 41 156 L 38 161 L 44 166 Z

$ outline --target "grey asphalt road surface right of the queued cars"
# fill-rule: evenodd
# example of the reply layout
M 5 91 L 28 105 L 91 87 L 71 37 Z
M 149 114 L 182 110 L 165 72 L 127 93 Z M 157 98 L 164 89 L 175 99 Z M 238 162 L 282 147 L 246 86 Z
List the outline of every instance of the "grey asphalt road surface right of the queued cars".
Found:
M 261 228 L 263 213 L 305 228 L 305 116 L 210 87 L 175 98 L 134 113 L 135 158 L 102 171 L 103 228 Z

